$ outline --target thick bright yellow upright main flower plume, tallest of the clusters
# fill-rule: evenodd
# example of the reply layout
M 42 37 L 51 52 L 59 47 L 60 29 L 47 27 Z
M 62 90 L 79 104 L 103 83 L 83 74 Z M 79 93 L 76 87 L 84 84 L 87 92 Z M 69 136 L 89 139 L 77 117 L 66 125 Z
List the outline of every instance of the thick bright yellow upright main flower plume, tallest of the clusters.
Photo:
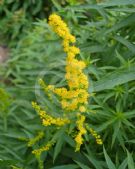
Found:
M 70 31 L 61 17 L 52 14 L 49 17 L 49 25 L 63 39 L 63 48 L 67 54 L 66 59 L 66 75 L 68 90 L 66 88 L 56 88 L 56 93 L 61 98 L 61 105 L 67 111 L 86 112 L 86 104 L 88 100 L 88 79 L 83 73 L 85 63 L 75 58 L 80 53 L 79 48 L 70 43 L 76 41 L 75 37 L 70 34 Z

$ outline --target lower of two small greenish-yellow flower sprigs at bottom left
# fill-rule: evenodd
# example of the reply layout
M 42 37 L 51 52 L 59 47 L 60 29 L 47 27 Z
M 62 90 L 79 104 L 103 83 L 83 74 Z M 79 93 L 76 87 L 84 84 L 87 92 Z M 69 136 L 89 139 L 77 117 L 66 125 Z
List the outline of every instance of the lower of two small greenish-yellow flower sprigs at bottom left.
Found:
M 55 144 L 55 141 L 50 141 L 45 146 L 43 146 L 39 149 L 33 150 L 32 153 L 35 154 L 36 156 L 40 156 L 40 154 L 43 151 L 48 151 L 54 144 Z

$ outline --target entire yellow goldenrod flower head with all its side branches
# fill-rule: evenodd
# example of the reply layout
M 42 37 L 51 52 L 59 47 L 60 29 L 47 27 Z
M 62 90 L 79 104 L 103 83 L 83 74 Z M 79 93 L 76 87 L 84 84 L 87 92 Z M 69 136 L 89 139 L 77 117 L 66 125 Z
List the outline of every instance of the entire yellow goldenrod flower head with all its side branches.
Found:
M 66 23 L 56 14 L 50 15 L 49 25 L 62 39 L 63 49 L 67 55 L 65 68 L 67 86 L 60 88 L 56 88 L 53 85 L 47 86 L 42 79 L 39 79 L 39 84 L 50 102 L 53 102 L 55 96 L 55 99 L 57 99 L 60 103 L 58 107 L 60 112 L 59 114 L 52 116 L 52 113 L 48 111 L 48 108 L 45 108 L 47 111 L 43 110 L 36 102 L 32 102 L 32 106 L 39 114 L 42 120 L 42 125 L 46 127 L 45 131 L 52 129 L 52 132 L 55 134 L 58 130 L 63 128 L 65 133 L 74 139 L 75 151 L 80 150 L 86 133 L 94 136 L 97 144 L 102 144 L 100 136 L 86 121 L 89 83 L 88 77 L 83 72 L 86 65 L 83 61 L 78 60 L 76 57 L 76 55 L 80 53 L 79 48 L 73 45 L 76 42 L 76 38 L 70 33 Z M 30 139 L 28 146 L 37 144 L 45 137 L 44 133 L 45 132 L 39 132 L 35 138 Z M 55 137 L 52 139 L 50 138 L 45 145 L 34 149 L 32 153 L 39 158 L 41 153 L 48 151 L 56 143 L 56 141 Z

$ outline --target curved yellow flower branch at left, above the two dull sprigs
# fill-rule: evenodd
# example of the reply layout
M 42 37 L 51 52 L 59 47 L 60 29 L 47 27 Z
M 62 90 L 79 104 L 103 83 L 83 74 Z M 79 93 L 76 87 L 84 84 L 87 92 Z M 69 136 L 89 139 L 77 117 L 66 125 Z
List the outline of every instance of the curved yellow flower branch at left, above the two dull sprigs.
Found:
M 68 124 L 70 120 L 66 118 L 54 118 L 46 113 L 46 111 L 41 110 L 40 106 L 32 102 L 32 107 L 38 112 L 40 118 L 42 119 L 42 124 L 44 126 L 50 126 L 52 124 L 57 125 L 57 126 L 63 126 L 65 124 Z

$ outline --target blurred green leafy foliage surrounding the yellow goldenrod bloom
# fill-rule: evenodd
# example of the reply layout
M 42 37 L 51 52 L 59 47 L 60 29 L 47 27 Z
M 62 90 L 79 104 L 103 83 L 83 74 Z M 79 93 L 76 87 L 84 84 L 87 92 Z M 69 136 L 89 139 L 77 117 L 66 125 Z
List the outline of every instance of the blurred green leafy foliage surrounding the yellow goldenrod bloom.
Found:
M 26 141 L 42 130 L 31 108 L 32 100 L 44 99 L 37 80 L 65 85 L 65 54 L 47 24 L 52 12 L 62 16 L 77 37 L 90 82 L 88 123 L 104 146 L 85 138 L 86 144 L 75 153 L 74 140 L 59 133 L 56 146 L 42 157 L 45 169 L 134 169 L 135 0 L 0 3 L 0 44 L 10 47 L 8 61 L 0 65 L 0 87 L 12 98 L 6 116 L 0 109 L 0 169 L 38 168 Z M 3 105 L 1 98 L 0 93 Z

